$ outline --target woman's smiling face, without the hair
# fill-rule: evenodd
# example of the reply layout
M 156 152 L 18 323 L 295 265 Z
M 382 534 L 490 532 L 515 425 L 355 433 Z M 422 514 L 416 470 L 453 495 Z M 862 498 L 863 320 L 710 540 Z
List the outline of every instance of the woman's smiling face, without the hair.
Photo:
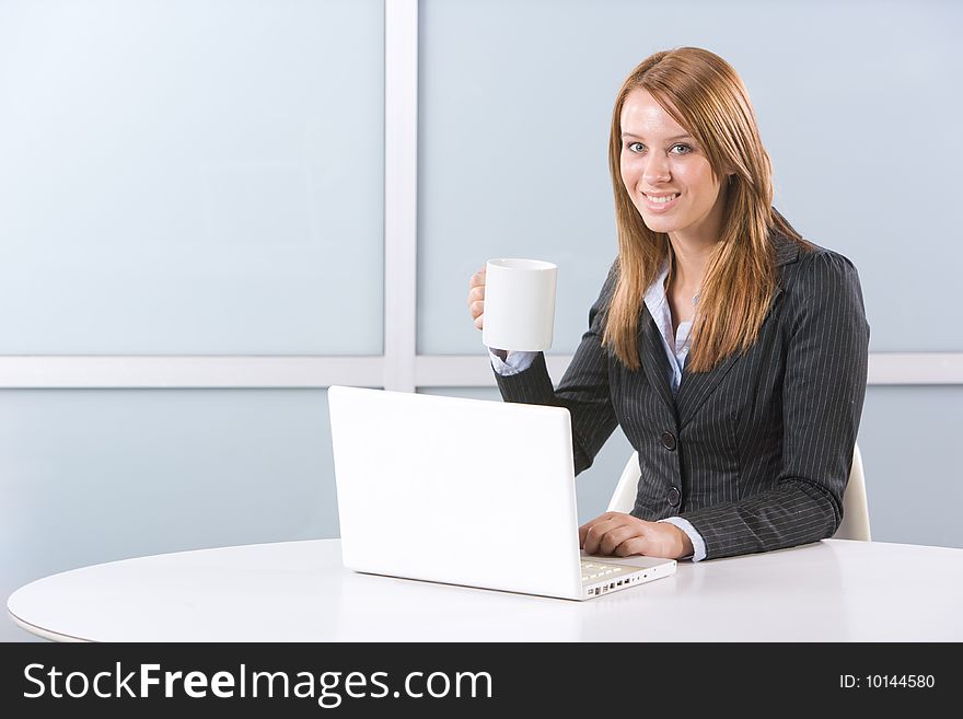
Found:
M 718 240 L 724 197 L 703 149 L 646 90 L 622 109 L 622 182 L 653 232 Z

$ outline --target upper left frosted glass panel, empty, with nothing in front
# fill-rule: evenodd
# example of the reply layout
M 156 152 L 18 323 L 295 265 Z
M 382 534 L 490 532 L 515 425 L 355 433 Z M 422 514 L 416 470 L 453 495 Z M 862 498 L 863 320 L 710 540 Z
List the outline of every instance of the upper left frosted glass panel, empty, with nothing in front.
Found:
M 0 3 L 0 353 L 380 353 L 383 13 Z

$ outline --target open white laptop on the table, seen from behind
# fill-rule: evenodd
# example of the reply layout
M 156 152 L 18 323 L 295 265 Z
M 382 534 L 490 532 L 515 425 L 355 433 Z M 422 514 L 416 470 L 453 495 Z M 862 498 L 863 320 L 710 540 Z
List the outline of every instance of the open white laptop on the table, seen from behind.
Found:
M 348 569 L 569 600 L 675 572 L 579 549 L 567 409 L 344 386 L 328 404 Z

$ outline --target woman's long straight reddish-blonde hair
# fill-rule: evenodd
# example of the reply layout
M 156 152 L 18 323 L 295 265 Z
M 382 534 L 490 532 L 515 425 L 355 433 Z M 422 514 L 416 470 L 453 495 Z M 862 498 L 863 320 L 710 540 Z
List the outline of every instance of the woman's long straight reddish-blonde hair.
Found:
M 730 175 L 722 231 L 693 322 L 686 370 L 706 372 L 755 341 L 776 288 L 769 231 L 810 247 L 773 209 L 773 171 L 749 94 L 718 55 L 697 47 L 655 53 L 626 78 L 612 112 L 608 169 L 618 229 L 618 280 L 602 344 L 629 369 L 640 367 L 638 334 L 646 290 L 673 259 L 669 235 L 642 221 L 622 179 L 622 111 L 643 89 L 704 148 L 717 181 Z M 724 169 L 724 170 L 723 170 Z

